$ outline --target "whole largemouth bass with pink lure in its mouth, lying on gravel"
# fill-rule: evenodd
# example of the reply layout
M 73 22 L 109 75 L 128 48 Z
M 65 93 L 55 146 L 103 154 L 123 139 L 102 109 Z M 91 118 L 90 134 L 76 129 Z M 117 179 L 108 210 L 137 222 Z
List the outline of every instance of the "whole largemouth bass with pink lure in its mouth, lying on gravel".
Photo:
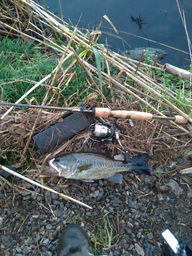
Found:
M 147 165 L 147 154 L 136 156 L 126 163 L 102 153 L 70 153 L 51 160 L 50 168 L 45 169 L 42 174 L 87 182 L 107 179 L 120 183 L 123 179 L 122 174 L 119 174 L 121 172 L 151 174 L 151 168 Z

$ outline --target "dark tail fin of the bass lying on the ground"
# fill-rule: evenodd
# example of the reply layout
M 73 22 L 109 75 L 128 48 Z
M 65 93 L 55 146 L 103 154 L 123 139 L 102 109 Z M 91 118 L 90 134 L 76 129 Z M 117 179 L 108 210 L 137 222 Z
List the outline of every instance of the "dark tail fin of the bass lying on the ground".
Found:
M 137 174 L 151 174 L 152 169 L 147 164 L 148 155 L 146 153 L 131 159 L 132 170 Z

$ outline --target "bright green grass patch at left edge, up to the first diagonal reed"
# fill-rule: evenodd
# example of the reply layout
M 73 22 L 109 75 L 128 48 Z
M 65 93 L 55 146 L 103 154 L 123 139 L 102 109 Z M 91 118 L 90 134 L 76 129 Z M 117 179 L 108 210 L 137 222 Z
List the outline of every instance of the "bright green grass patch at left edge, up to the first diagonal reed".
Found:
M 0 38 L 1 100 L 15 102 L 22 97 L 34 84 L 40 81 L 57 65 L 55 57 L 47 57 L 40 53 L 32 43 L 19 39 Z M 41 101 L 46 87 L 36 89 L 30 97 Z

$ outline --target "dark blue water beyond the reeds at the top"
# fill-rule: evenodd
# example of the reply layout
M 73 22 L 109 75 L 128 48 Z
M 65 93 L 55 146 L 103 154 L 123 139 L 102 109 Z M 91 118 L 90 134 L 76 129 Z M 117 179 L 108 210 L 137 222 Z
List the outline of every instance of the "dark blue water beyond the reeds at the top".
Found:
M 40 3 L 42 4 L 43 0 L 40 0 Z M 46 0 L 46 3 L 50 11 L 61 16 L 59 0 Z M 107 15 L 119 34 L 117 35 L 111 29 L 111 25 L 104 20 L 99 43 L 105 44 L 107 37 L 113 51 L 123 52 L 136 47 L 148 47 L 146 36 L 155 41 L 150 42 L 150 47 L 167 52 L 162 63 L 168 62 L 181 68 L 190 65 L 189 55 L 163 46 L 167 45 L 189 53 L 185 29 L 175 0 L 60 0 L 60 4 L 64 20 L 68 22 L 70 18 L 73 25 L 78 24 L 78 28 L 92 30 L 100 23 L 101 17 Z M 180 0 L 179 4 L 181 11 L 184 11 L 187 31 L 192 40 L 192 0 Z M 131 19 L 131 16 L 136 19 L 139 15 L 144 19 L 141 23 L 147 23 L 143 24 L 140 30 L 138 24 Z

